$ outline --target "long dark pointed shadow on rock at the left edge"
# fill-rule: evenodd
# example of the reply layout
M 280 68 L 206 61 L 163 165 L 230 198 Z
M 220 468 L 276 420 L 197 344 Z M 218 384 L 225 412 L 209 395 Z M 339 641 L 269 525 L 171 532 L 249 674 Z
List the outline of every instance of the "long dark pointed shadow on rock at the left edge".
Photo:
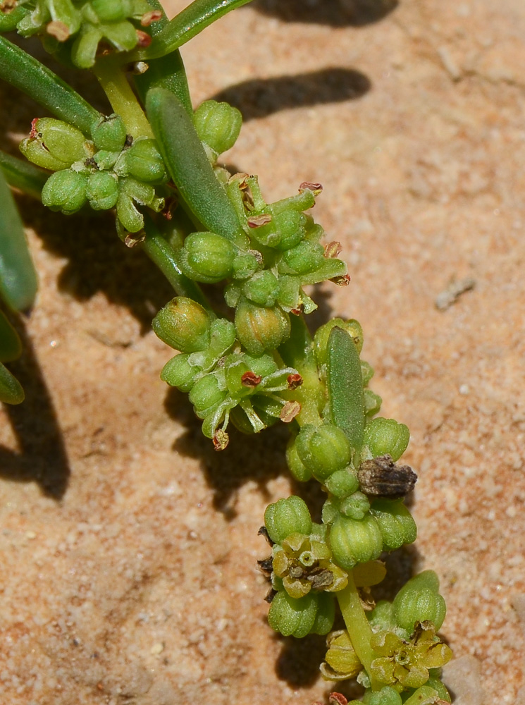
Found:
M 25 401 L 20 405 L 4 405 L 20 451 L 0 446 L 0 477 L 16 482 L 37 482 L 45 496 L 60 500 L 70 477 L 66 446 L 23 317 L 10 315 L 9 318 L 23 343 L 23 353 L 8 367 L 22 384 Z

